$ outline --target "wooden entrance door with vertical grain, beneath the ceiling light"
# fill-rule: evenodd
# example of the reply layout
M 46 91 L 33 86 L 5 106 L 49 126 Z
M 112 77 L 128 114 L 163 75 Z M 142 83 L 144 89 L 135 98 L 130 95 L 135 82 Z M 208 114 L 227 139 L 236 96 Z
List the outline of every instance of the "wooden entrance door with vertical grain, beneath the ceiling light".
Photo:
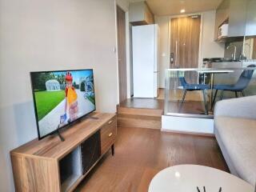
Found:
M 170 53 L 174 63 L 170 68 L 198 68 L 201 16 L 171 18 Z M 197 74 L 187 74 L 197 82 Z

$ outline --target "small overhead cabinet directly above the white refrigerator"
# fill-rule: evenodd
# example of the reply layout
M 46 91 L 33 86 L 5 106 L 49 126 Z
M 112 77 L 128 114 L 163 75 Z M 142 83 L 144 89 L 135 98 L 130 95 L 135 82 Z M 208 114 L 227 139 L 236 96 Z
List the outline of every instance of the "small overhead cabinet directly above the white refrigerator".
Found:
M 130 3 L 129 21 L 133 26 L 154 24 L 154 14 L 146 2 Z

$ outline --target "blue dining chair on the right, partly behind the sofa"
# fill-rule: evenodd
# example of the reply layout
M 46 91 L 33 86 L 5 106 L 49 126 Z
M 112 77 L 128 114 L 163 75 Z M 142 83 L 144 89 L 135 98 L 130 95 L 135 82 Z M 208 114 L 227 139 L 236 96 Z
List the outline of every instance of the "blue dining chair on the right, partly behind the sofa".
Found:
M 256 65 L 250 65 L 247 67 L 256 67 Z M 222 100 L 222 98 L 223 98 L 224 90 L 234 92 L 236 98 L 238 98 L 238 93 L 241 93 L 242 96 L 244 97 L 245 96 L 244 90 L 249 85 L 250 80 L 253 77 L 253 74 L 254 74 L 254 70 L 243 70 L 242 74 L 238 78 L 238 82 L 236 82 L 234 85 L 216 85 L 216 86 L 214 86 L 215 94 L 214 94 L 214 101 L 213 101 L 212 105 L 214 105 L 218 90 L 222 90 L 220 100 Z

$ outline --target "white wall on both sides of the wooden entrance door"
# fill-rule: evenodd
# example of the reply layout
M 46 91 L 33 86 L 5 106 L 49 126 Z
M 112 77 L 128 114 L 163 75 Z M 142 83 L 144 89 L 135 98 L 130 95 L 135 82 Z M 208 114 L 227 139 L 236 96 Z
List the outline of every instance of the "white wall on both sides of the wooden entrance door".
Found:
M 202 36 L 199 58 L 223 58 L 224 45 L 214 42 L 215 10 L 199 13 L 202 15 Z M 155 17 L 160 27 L 160 87 L 165 87 L 165 70 L 170 66 L 170 18 L 171 16 Z M 202 62 L 198 63 L 201 66 Z

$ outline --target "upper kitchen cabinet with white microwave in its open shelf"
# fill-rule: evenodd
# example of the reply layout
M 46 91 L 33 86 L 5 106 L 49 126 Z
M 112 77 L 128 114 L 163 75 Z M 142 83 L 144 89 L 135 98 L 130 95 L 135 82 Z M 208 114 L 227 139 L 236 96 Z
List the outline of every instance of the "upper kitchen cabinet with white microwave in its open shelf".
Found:
M 223 0 L 216 10 L 215 39 L 239 38 L 246 34 L 249 0 Z M 253 0 L 254 1 L 254 0 Z

